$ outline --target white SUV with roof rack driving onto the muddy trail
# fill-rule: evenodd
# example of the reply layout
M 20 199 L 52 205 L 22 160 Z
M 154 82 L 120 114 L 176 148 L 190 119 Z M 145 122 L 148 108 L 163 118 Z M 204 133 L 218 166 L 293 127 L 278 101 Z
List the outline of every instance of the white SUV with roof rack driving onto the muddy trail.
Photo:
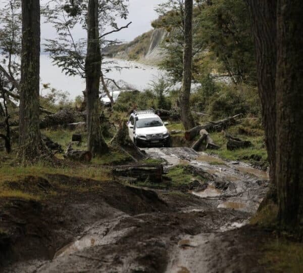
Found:
M 127 122 L 130 139 L 138 147 L 170 145 L 170 135 L 154 110 L 133 111 Z

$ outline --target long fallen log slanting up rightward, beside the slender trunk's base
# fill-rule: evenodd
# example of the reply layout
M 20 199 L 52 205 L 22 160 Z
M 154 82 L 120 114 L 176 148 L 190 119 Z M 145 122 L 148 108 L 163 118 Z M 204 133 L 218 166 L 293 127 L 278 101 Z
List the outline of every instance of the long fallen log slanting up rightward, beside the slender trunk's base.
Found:
M 195 138 L 196 135 L 199 134 L 201 129 L 206 129 L 207 131 L 219 131 L 222 130 L 224 127 L 233 125 L 236 123 L 235 118 L 241 116 L 242 114 L 234 115 L 233 117 L 229 117 L 226 119 L 222 119 L 216 122 L 209 122 L 203 125 L 197 125 L 190 130 L 185 131 L 184 138 L 187 141 L 190 141 Z

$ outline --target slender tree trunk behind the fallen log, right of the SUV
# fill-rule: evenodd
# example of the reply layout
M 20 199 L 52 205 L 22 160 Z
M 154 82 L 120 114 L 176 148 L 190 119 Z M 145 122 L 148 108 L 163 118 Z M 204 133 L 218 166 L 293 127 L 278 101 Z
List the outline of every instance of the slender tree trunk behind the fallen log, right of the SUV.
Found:
M 194 127 L 194 120 L 190 112 L 190 87 L 191 87 L 191 61 L 192 61 L 192 3 L 185 0 L 184 17 L 184 49 L 183 49 L 183 77 L 180 90 L 180 114 L 186 130 Z

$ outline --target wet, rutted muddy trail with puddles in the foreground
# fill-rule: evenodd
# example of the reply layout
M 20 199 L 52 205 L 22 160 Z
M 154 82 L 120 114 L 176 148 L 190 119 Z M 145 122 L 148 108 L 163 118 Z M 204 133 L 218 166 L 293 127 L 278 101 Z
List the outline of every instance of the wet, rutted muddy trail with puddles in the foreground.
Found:
M 268 190 L 267 173 L 189 148 L 144 151 L 162 159 L 166 171 L 184 165 L 205 180 L 193 179 L 186 191 L 113 182 L 93 196 L 48 206 L 62 213 L 56 223 L 60 217 L 69 223 L 60 218 L 65 224 L 52 225 L 47 240 L 36 238 L 28 246 L 32 255 L 19 253 L 3 271 L 262 272 L 262 235 L 246 224 Z M 48 214 L 43 212 L 47 219 Z

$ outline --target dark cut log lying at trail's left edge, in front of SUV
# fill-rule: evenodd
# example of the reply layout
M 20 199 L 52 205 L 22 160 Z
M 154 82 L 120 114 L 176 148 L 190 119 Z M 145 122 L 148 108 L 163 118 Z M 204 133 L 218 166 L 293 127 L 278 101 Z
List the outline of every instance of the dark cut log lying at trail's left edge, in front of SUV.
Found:
M 137 178 L 140 181 L 149 181 L 150 183 L 162 183 L 163 165 L 162 164 L 139 164 L 117 166 L 112 173 L 116 176 L 129 176 Z

